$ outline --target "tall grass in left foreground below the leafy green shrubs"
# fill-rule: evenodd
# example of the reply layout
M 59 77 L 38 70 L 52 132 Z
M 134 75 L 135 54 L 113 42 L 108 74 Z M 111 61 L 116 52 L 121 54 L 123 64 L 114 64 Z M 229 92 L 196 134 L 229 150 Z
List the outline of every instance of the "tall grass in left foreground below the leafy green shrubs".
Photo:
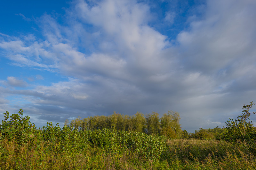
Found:
M 163 169 L 168 167 L 162 165 L 161 162 L 146 160 L 139 157 L 138 154 L 126 152 L 121 155 L 105 154 L 101 147 L 91 147 L 84 149 L 83 152 L 71 152 L 70 157 L 65 154 L 54 152 L 44 153 L 44 144 L 41 144 L 40 149 L 37 145 L 19 146 L 15 140 L 4 140 L 1 143 L 0 152 L 0 169 L 120 169 L 120 170 L 135 170 L 135 169 Z M 164 169 L 166 169 L 164 168 Z

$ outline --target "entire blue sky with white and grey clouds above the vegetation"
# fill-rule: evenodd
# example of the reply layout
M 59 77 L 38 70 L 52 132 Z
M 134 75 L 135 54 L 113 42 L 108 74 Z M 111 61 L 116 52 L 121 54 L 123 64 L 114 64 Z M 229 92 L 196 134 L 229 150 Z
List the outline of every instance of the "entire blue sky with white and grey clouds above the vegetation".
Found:
M 0 118 L 22 108 L 42 127 L 172 110 L 188 132 L 225 126 L 256 102 L 255 9 L 255 0 L 1 1 Z

